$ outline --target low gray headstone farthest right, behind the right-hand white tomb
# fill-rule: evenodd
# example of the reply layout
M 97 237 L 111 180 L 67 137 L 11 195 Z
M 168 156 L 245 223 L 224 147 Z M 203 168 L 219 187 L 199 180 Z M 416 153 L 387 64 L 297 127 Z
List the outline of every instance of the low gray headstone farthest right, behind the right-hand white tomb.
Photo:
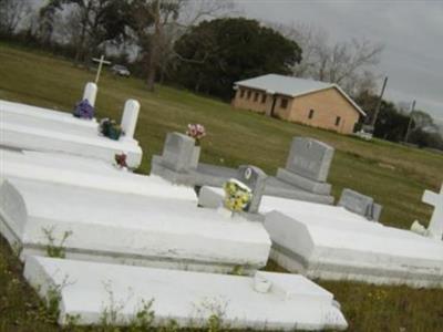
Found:
M 372 197 L 348 188 L 343 189 L 337 205 L 363 216 L 369 220 L 379 220 L 382 209 L 381 205 L 375 204 Z

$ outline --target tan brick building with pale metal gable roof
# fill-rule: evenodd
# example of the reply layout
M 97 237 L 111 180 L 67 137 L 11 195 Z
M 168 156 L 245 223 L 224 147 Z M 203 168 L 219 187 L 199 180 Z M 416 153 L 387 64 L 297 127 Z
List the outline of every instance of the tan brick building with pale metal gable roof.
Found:
M 337 84 L 268 74 L 235 82 L 233 106 L 351 134 L 364 112 Z

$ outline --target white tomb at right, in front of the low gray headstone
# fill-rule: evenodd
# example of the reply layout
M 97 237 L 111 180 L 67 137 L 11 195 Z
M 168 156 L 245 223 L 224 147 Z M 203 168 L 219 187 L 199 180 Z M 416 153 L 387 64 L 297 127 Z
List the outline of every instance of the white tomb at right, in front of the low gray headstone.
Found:
M 219 188 L 212 190 L 222 197 Z M 441 196 L 437 196 L 441 197 Z M 270 258 L 309 278 L 443 287 L 443 241 L 385 227 L 343 207 L 262 196 Z

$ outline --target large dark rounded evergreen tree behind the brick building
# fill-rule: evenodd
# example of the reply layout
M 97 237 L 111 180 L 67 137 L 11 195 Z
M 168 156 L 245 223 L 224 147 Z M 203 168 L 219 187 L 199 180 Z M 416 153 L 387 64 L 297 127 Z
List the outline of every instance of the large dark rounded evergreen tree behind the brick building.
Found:
M 175 44 L 181 61 L 175 79 L 196 92 L 231 96 L 237 80 L 289 74 L 301 49 L 277 31 L 244 18 L 204 21 Z

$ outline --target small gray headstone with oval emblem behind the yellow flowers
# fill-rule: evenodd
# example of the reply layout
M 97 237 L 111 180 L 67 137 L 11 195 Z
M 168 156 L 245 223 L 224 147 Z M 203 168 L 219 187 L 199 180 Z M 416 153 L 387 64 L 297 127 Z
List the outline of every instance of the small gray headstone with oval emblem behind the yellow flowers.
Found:
M 261 196 L 265 193 L 266 178 L 266 173 L 256 166 L 241 165 L 238 167 L 237 179 L 253 190 L 253 200 L 249 204 L 248 212 L 258 212 Z

